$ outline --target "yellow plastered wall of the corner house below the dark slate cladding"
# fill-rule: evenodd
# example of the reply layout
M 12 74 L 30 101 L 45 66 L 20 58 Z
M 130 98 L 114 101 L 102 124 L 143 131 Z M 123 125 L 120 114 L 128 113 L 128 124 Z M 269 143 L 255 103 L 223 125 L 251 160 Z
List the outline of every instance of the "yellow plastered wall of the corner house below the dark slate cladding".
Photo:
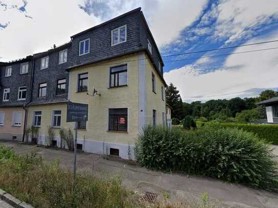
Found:
M 145 58 L 143 65 L 139 64 L 139 55 Z M 122 64 L 127 64 L 127 85 L 110 88 L 110 67 Z M 141 70 L 145 73 L 140 73 Z M 78 75 L 83 73 L 88 73 L 88 91 L 78 92 Z M 152 91 L 152 73 L 156 76 L 156 93 Z M 146 99 L 139 96 L 139 76 L 145 76 L 146 86 L 140 86 L 145 90 Z M 109 154 L 109 150 L 106 150 L 109 148 L 120 149 L 120 156 L 127 158 L 127 149 L 129 146 L 134 146 L 141 128 L 139 111 L 142 110 L 139 109 L 139 102 L 144 102 L 146 106 L 144 125 L 152 124 L 154 109 L 157 111 L 157 124 L 162 124 L 162 112 L 164 115 L 166 112 L 165 98 L 162 100 L 161 96 L 162 86 L 164 87 L 162 80 L 145 53 L 73 68 L 69 76 L 68 99 L 71 102 L 89 105 L 86 129 L 78 130 L 78 144 L 83 145 L 84 151 L 100 154 L 106 152 Z M 94 88 L 101 96 L 92 96 Z M 127 132 L 109 131 L 109 109 L 111 108 L 127 108 Z M 52 126 L 54 110 L 61 110 L 61 127 L 73 130 L 74 124 L 66 122 L 66 103 L 29 106 L 27 126 L 33 125 L 34 112 L 41 111 L 39 132 L 41 138 L 44 138 L 48 126 Z M 54 128 L 54 132 L 59 140 L 59 128 Z M 104 144 L 107 146 L 106 149 Z

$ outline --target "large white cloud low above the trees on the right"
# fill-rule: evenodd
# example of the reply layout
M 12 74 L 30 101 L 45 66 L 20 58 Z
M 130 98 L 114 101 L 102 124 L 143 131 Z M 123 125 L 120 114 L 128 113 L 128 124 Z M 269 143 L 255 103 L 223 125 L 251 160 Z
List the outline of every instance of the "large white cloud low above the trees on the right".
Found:
M 247 43 L 278 39 L 278 30 L 268 37 L 251 39 Z M 238 48 L 234 52 L 278 47 L 267 43 Z M 198 64 L 187 65 L 164 73 L 167 83 L 173 82 L 184 101 L 248 97 L 253 89 L 278 87 L 278 49 L 230 55 L 216 71 L 201 74 Z M 211 60 L 209 60 L 211 62 Z

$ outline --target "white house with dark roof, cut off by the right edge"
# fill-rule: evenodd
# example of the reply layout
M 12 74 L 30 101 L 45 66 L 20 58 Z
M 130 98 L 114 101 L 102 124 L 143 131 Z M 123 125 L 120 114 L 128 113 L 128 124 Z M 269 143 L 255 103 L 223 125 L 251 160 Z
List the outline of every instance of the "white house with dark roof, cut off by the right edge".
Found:
M 278 123 L 278 97 L 262 101 L 258 105 L 265 105 L 267 123 Z

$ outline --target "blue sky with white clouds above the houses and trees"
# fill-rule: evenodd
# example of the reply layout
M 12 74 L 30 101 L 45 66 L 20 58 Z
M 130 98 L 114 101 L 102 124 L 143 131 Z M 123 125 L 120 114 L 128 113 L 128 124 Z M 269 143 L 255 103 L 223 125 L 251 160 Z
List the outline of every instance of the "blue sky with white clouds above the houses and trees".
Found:
M 277 0 L 0 0 L 0 61 L 66 43 L 138 7 L 161 55 L 174 55 L 163 58 L 164 79 L 184 102 L 278 90 L 278 42 L 177 55 L 278 40 Z

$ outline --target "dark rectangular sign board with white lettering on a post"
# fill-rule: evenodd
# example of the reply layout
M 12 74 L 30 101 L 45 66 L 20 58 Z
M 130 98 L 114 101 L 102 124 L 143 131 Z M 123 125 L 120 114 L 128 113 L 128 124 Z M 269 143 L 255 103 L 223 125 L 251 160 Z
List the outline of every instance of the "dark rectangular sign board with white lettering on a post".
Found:
M 88 104 L 68 102 L 67 122 L 88 121 Z

